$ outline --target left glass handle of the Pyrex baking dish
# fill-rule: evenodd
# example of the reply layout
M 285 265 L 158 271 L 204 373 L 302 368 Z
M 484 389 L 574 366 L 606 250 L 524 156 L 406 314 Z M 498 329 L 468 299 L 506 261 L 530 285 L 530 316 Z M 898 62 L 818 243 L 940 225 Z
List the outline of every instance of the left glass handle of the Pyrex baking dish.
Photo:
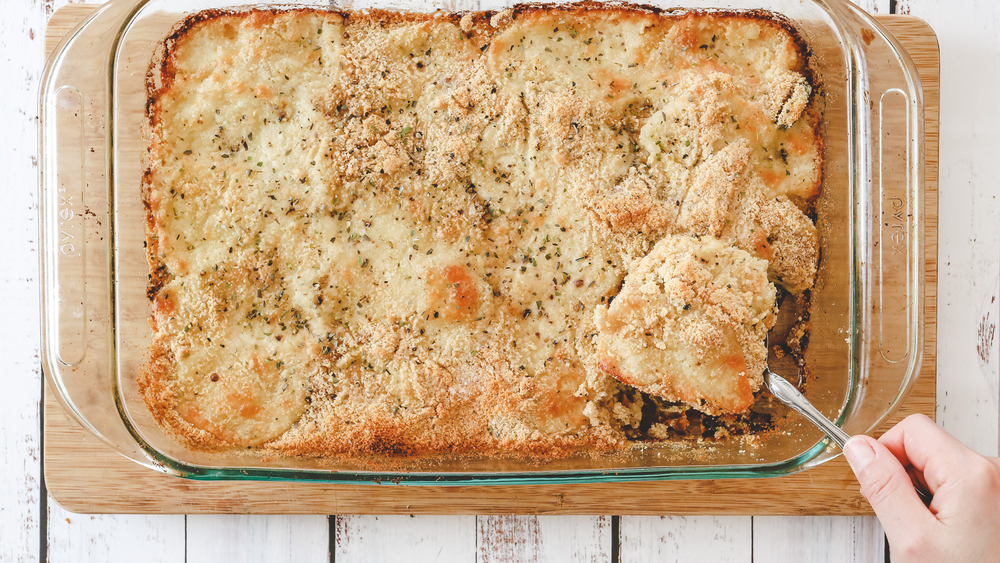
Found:
M 42 80 L 42 369 L 67 413 L 148 463 L 115 396 L 108 53 L 131 9 L 129 2 L 96 8 L 55 49 Z

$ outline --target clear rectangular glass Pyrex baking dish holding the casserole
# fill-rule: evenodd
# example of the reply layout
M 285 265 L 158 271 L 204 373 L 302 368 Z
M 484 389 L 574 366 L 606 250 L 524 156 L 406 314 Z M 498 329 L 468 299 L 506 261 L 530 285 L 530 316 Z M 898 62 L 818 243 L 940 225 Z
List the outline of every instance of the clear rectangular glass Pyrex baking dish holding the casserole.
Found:
M 137 463 L 195 479 L 440 485 L 750 478 L 802 471 L 838 455 L 794 414 L 780 432 L 752 446 L 739 440 L 654 444 L 542 463 L 447 456 L 267 459 L 193 450 L 167 436 L 135 381 L 150 336 L 140 192 L 146 72 L 157 44 L 185 15 L 243 4 L 111 0 L 49 61 L 41 91 L 43 366 L 65 409 L 89 431 Z M 334 6 L 506 7 L 495 0 Z M 788 18 L 812 49 L 825 164 L 808 396 L 849 433 L 871 431 L 899 406 L 922 357 L 923 107 L 913 63 L 890 33 L 847 1 L 691 0 L 685 8 L 771 10 Z

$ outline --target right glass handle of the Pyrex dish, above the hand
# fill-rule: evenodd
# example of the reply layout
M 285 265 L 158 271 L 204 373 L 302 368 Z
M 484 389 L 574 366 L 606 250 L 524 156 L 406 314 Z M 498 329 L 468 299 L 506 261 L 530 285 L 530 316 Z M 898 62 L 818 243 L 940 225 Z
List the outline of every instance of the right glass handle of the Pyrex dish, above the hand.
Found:
M 923 85 L 909 54 L 881 24 L 842 3 L 862 41 L 852 47 L 853 111 L 858 137 L 852 171 L 861 210 L 855 217 L 862 296 L 860 379 L 867 379 L 845 424 L 869 432 L 902 401 L 923 360 Z M 864 137 L 864 138 L 862 138 Z M 865 273 L 867 272 L 867 274 Z

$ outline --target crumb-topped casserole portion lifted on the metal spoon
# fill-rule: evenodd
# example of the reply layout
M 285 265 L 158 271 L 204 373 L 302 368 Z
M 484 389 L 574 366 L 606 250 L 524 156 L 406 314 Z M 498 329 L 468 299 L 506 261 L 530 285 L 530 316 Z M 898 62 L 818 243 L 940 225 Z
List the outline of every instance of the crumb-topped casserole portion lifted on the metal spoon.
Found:
M 664 237 L 596 312 L 598 367 L 622 383 L 708 413 L 753 402 L 775 320 L 767 261 L 712 237 Z

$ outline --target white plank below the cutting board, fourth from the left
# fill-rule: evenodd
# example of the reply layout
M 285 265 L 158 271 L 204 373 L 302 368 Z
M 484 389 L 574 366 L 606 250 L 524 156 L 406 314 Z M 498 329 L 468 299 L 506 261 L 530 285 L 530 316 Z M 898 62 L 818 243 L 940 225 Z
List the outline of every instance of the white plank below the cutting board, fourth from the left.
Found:
M 473 561 L 475 516 L 338 516 L 337 563 Z

